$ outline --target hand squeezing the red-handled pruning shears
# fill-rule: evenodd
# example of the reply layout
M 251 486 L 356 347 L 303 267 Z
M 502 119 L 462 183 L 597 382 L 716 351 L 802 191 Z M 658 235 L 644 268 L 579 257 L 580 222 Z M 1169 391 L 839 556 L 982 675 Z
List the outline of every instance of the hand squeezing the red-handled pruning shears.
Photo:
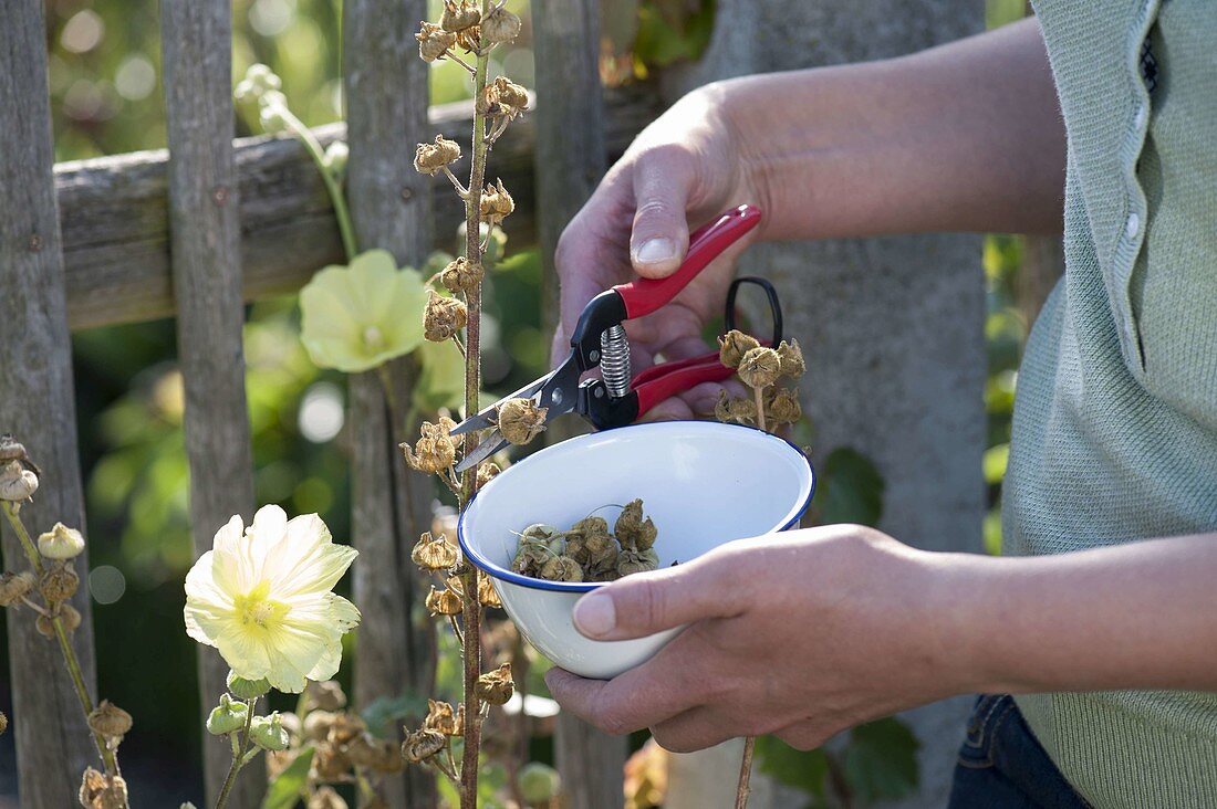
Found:
M 588 300 L 635 275 L 671 275 L 684 260 L 690 224 L 758 201 L 719 95 L 716 85 L 696 90 L 647 127 L 562 232 L 555 257 L 561 282 L 555 363 L 570 352 L 571 332 Z M 756 231 L 734 245 L 662 310 L 626 325 L 635 369 L 652 365 L 657 354 L 673 360 L 710 350 L 702 330 L 722 311 L 734 259 L 755 238 Z M 711 412 L 719 388 L 699 386 L 647 417 Z

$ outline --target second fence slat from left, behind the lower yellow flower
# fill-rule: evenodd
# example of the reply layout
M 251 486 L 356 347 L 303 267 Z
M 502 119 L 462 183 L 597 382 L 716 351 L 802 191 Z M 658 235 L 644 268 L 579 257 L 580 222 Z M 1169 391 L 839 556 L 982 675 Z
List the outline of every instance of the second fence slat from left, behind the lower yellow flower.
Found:
M 178 354 L 186 384 L 190 518 L 196 556 L 234 513 L 253 516 L 253 457 L 241 350 L 239 191 L 232 161 L 231 18 L 228 0 L 162 0 L 161 30 L 169 131 L 169 232 Z M 224 691 L 228 667 L 200 647 L 202 709 Z M 206 736 L 213 803 L 231 752 Z M 229 805 L 252 809 L 260 768 L 243 771 Z

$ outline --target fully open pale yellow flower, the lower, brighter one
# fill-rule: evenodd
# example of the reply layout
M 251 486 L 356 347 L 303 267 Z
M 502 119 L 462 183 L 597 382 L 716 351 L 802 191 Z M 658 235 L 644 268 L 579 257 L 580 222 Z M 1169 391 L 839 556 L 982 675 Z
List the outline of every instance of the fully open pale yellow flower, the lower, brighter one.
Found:
M 186 574 L 186 633 L 215 646 L 237 676 L 298 693 L 338 670 L 359 611 L 331 592 L 358 552 L 335 545 L 316 515 L 288 521 L 263 506 L 236 516 Z

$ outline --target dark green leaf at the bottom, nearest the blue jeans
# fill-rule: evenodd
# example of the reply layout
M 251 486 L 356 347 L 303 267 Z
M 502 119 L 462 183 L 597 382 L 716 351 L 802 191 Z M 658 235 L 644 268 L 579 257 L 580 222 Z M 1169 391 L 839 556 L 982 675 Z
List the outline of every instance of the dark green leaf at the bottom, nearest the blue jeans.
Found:
M 896 718 L 854 727 L 841 763 L 851 794 L 867 804 L 916 792 L 919 746 L 913 731 Z

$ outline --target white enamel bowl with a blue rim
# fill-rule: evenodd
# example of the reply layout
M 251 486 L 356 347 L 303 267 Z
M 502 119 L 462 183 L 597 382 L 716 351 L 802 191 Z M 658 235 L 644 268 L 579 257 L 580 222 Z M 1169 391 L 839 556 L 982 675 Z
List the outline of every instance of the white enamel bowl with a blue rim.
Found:
M 581 436 L 509 467 L 461 515 L 461 549 L 495 580 L 523 636 L 557 665 L 608 679 L 655 654 L 679 630 L 594 641 L 574 628 L 574 602 L 602 584 L 544 582 L 511 571 L 517 536 L 537 522 L 567 528 L 607 504 L 641 498 L 660 529 L 660 567 L 723 543 L 784 530 L 812 499 L 802 451 L 751 427 L 667 421 Z M 610 527 L 616 509 L 599 511 Z

